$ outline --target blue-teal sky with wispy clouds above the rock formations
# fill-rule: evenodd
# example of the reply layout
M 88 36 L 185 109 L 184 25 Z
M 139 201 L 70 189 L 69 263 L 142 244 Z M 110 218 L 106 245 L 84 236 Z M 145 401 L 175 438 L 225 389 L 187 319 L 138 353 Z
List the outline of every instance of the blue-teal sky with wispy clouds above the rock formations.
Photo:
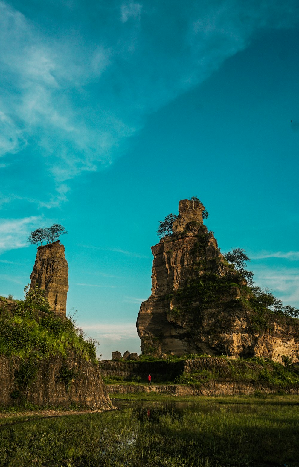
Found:
M 197 196 L 299 307 L 298 57 L 298 0 L 0 0 L 0 295 L 62 224 L 67 313 L 140 354 L 159 220 Z

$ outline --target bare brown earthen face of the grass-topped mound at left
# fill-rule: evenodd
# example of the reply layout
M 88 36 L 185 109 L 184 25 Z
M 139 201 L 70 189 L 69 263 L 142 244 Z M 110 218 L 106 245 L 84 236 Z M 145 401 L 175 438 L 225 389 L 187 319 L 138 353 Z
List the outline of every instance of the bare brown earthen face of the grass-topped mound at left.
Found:
M 53 357 L 43 361 L 34 380 L 26 388 L 20 388 L 18 373 L 26 362 L 19 357 L 0 355 L 0 404 L 14 405 L 25 398 L 37 405 L 62 405 L 71 403 L 89 408 L 109 409 L 106 386 L 98 365 L 82 357 L 69 355 L 64 360 Z

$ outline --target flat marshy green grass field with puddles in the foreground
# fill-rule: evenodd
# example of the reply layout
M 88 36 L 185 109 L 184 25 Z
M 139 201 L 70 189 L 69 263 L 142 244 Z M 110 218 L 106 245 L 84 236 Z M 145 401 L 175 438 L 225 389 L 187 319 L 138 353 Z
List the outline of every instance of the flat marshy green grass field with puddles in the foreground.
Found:
M 205 397 L 183 411 L 149 402 L 102 414 L 12 420 L 0 428 L 0 465 L 298 467 L 298 400 Z

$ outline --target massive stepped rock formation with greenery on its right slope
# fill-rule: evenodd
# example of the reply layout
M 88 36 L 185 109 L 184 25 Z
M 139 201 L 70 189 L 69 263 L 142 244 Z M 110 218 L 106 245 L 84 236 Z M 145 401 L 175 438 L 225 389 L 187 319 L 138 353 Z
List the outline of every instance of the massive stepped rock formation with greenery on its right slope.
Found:
M 173 234 L 151 248 L 152 294 L 137 318 L 142 354 L 299 361 L 299 320 L 257 303 L 203 225 L 204 209 L 198 201 L 181 200 Z

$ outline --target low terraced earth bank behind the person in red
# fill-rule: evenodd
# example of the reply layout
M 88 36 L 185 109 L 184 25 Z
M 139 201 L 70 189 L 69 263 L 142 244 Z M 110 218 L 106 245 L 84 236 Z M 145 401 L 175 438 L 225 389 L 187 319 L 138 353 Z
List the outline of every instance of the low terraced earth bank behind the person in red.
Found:
M 159 392 L 177 396 L 299 394 L 298 363 L 282 364 L 261 358 L 220 357 L 171 361 L 100 361 L 109 394 Z M 152 386 L 147 384 L 151 374 Z M 132 383 L 133 384 L 130 384 Z

